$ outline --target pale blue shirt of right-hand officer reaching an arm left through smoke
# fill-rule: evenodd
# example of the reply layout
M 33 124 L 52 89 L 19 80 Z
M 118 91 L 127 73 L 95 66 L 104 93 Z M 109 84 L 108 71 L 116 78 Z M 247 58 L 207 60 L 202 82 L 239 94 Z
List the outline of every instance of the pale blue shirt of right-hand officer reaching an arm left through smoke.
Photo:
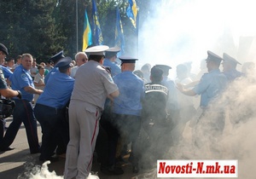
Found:
M 201 77 L 199 84 L 193 89 L 197 95 L 201 95 L 200 107 L 207 107 L 212 99 L 224 91 L 226 85 L 227 78 L 219 69 L 205 73 Z

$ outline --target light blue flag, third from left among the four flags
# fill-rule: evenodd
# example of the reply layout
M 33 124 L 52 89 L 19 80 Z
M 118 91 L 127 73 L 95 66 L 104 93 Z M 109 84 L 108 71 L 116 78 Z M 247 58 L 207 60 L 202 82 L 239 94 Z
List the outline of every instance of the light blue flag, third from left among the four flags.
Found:
M 122 21 L 119 14 L 119 8 L 116 8 L 116 23 L 115 23 L 115 33 L 114 33 L 114 44 L 118 46 L 121 50 L 118 56 L 125 54 L 125 36 L 122 26 Z

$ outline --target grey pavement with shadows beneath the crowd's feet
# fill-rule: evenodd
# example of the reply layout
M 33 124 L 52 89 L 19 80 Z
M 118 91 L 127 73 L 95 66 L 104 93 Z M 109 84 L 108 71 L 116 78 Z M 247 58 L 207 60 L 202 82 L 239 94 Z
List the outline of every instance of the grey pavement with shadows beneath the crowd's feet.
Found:
M 12 118 L 7 118 L 7 124 L 12 121 Z M 41 141 L 41 127 L 38 124 L 38 137 Z M 28 179 L 29 173 L 32 170 L 37 169 L 37 165 L 41 166 L 42 162 L 39 162 L 39 154 L 30 154 L 28 144 L 26 141 L 26 130 L 22 124 L 20 130 L 15 138 L 11 147 L 15 147 L 15 150 L 8 152 L 0 152 L 0 179 Z M 57 176 L 63 175 L 65 164 L 65 158 L 60 158 L 59 161 L 49 164 L 49 171 L 55 170 Z M 131 165 L 127 163 L 123 169 L 125 174 L 121 176 L 106 176 L 99 170 L 99 165 L 94 162 L 93 171 L 98 172 L 98 176 L 101 179 L 128 179 L 133 176 L 137 176 L 131 172 Z M 34 172 L 34 171 L 33 171 Z

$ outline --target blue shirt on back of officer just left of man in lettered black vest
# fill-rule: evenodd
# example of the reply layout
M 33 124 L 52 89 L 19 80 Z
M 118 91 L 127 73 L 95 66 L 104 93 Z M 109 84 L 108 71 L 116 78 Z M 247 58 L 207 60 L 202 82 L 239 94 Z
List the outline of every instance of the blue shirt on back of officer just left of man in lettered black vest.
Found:
M 141 116 L 144 84 L 133 72 L 121 72 L 113 77 L 119 96 L 113 99 L 113 113 Z

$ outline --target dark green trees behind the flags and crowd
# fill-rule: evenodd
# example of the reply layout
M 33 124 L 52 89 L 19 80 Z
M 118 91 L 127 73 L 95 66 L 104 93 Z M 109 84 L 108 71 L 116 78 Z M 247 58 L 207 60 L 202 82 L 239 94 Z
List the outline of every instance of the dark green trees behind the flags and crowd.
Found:
M 58 5 L 56 5 L 56 3 Z M 137 0 L 143 14 L 148 14 L 147 0 Z M 113 46 L 116 7 L 119 7 L 125 40 L 133 37 L 134 28 L 126 17 L 127 0 L 96 0 L 104 43 Z M 38 61 L 47 61 L 51 55 L 65 51 L 74 56 L 82 49 L 84 11 L 91 22 L 91 0 L 1 0 L 0 43 L 9 49 L 9 56 L 30 53 Z M 78 21 L 77 21 L 78 13 Z M 78 22 L 78 24 L 77 24 Z M 78 34 L 77 34 L 78 26 Z M 78 37 L 78 43 L 77 43 Z

